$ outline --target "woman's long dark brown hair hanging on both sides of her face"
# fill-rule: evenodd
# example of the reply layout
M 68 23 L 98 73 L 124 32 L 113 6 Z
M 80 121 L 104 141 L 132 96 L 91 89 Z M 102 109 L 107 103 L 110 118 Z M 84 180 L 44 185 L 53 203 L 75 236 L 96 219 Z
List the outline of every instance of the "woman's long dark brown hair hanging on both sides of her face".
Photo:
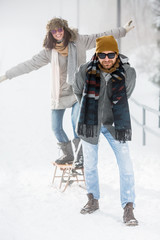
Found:
M 71 33 L 64 28 L 64 48 L 68 46 L 69 40 L 71 39 Z M 43 41 L 43 47 L 47 49 L 53 49 L 56 46 L 57 40 L 53 37 L 50 31 L 47 32 L 45 39 Z

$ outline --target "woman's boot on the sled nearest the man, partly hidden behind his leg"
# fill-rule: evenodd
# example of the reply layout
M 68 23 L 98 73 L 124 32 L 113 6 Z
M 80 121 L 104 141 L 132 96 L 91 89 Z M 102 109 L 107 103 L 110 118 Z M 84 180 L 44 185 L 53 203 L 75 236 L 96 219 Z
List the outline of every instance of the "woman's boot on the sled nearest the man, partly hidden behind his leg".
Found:
M 76 153 L 76 158 L 74 160 L 74 166 L 76 169 L 83 168 L 83 151 L 82 151 L 82 143 L 80 143 L 80 138 L 74 138 L 73 143 L 75 146 L 75 153 Z M 79 144 L 81 144 L 79 150 Z M 78 152 L 77 152 L 78 150 Z

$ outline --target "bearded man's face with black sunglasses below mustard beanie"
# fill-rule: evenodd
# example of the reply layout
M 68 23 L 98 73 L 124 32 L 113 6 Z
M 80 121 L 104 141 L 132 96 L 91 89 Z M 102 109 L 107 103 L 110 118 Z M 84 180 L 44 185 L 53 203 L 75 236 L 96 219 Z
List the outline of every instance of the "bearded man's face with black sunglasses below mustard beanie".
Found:
M 98 60 L 102 67 L 105 69 L 110 69 L 115 64 L 117 57 L 118 55 L 112 51 L 104 51 L 102 53 L 98 53 Z

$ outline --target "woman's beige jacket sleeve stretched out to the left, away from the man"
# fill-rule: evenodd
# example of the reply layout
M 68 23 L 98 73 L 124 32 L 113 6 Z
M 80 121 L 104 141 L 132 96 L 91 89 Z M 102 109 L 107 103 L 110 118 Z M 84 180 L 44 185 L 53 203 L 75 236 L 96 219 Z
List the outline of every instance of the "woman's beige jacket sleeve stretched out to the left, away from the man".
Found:
M 17 66 L 6 71 L 5 75 L 8 79 L 20 76 L 25 73 L 29 73 L 33 70 L 37 70 L 51 61 L 51 51 L 42 50 L 38 54 L 34 55 L 30 60 L 18 64 Z

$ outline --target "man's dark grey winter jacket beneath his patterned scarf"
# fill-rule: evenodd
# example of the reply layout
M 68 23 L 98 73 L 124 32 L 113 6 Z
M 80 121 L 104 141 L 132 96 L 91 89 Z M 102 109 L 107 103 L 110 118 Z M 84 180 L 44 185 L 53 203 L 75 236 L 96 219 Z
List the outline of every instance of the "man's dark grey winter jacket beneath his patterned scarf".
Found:
M 125 70 L 125 84 L 126 84 L 126 92 L 127 97 L 129 98 L 133 92 L 136 82 L 136 72 L 135 69 L 130 67 L 128 64 L 128 58 L 120 55 L 121 61 L 123 63 L 123 68 Z M 84 83 L 85 83 L 85 76 L 86 76 L 86 68 L 88 63 L 82 65 L 79 71 L 76 73 L 76 78 L 73 84 L 73 91 L 77 96 L 78 101 L 81 101 Z M 110 74 L 104 73 L 101 71 L 100 73 L 100 93 L 99 93 L 99 100 L 98 100 L 98 135 L 97 137 L 89 137 L 86 138 L 84 136 L 79 136 L 84 141 L 89 142 L 91 144 L 97 144 L 100 135 L 100 129 L 103 125 L 108 129 L 108 131 L 112 134 L 115 138 L 115 128 L 113 126 L 113 113 L 112 113 L 112 106 L 110 102 L 110 97 L 112 95 L 112 82 Z

